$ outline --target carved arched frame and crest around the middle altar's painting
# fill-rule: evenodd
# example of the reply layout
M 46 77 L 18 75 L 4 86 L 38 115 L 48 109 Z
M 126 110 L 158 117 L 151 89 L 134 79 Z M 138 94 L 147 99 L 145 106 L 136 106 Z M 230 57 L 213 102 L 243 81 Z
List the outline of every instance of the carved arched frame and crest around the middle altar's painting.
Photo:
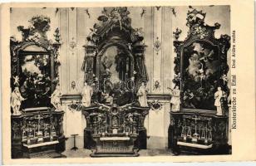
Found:
M 82 70 L 85 71 L 85 80 L 93 82 L 93 75 L 100 76 L 100 59 L 103 53 L 110 46 L 120 46 L 128 56 L 134 61 L 130 66 L 130 77 L 135 77 L 135 85 L 140 81 L 147 82 L 148 76 L 144 64 L 145 44 L 141 29 L 130 27 L 130 17 L 127 7 L 112 7 L 110 12 L 106 12 L 104 7 L 98 17 L 100 24 L 95 24 L 91 34 L 86 37 L 86 56 Z M 121 18 L 115 15 L 118 13 Z M 120 19 L 120 21 L 118 20 Z M 120 24 L 121 23 L 121 24 Z M 135 71 L 135 72 L 134 72 Z M 136 87 L 137 89 L 138 87 Z

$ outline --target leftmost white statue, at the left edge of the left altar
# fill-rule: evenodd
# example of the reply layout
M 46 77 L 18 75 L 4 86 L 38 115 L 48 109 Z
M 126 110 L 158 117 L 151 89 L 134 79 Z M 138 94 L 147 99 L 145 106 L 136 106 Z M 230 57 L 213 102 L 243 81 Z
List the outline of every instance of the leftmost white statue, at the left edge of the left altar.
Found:
M 25 99 L 22 97 L 20 90 L 18 90 L 18 87 L 15 87 L 14 90 L 12 91 L 12 96 L 11 96 L 11 106 L 13 110 L 12 115 L 21 115 L 20 107 L 22 105 L 22 100 L 25 100 Z

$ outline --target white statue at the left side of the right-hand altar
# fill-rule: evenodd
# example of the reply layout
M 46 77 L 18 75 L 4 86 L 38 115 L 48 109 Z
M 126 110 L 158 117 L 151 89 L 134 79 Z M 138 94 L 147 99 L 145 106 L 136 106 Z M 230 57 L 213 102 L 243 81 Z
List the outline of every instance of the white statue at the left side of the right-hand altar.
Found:
M 174 90 L 171 90 L 171 111 L 179 112 L 180 111 L 180 89 L 179 86 L 176 85 Z

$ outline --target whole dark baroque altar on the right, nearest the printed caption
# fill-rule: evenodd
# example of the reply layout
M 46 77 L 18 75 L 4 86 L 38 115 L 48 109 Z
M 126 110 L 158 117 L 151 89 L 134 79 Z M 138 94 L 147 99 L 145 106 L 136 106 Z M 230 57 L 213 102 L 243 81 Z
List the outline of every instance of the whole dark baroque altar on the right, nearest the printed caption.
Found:
M 228 115 L 229 85 L 227 52 L 230 37 L 214 37 L 220 24 L 209 26 L 206 13 L 193 7 L 187 13 L 189 27 L 185 41 L 175 35 L 175 87 L 179 102 L 170 111 L 169 148 L 175 154 L 190 149 L 190 153 L 229 154 Z M 174 96 L 172 96 L 174 98 Z M 178 103 L 178 104 L 176 104 Z M 192 150 L 191 150 L 192 149 Z

